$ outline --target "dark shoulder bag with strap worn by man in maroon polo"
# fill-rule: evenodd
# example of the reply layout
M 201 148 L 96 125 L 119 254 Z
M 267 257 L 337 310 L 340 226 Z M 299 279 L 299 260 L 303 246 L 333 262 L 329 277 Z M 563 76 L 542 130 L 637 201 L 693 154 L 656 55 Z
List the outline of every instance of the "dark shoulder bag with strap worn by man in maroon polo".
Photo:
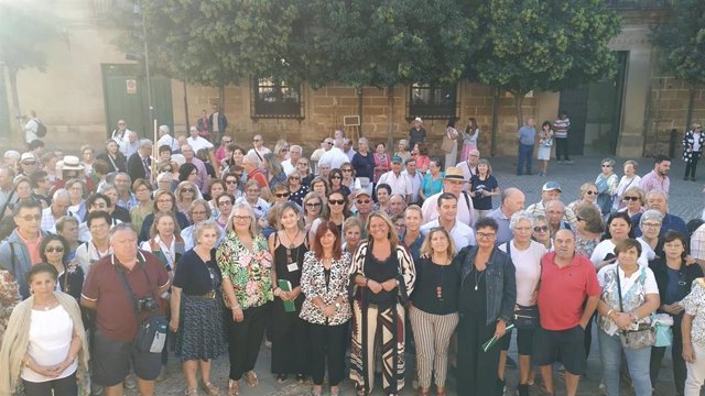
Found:
M 115 261 L 115 255 L 112 256 Z M 142 267 L 144 272 L 144 277 L 147 277 L 147 284 L 152 287 L 152 283 L 150 282 L 150 276 L 147 273 L 147 265 L 144 264 L 144 257 L 142 253 L 138 253 L 137 261 Z M 115 264 L 115 263 L 113 263 Z M 134 346 L 140 352 L 150 352 L 150 353 L 162 353 L 164 345 L 166 344 L 166 330 L 169 328 L 169 322 L 166 318 L 160 315 L 151 316 L 147 319 L 142 319 L 140 315 L 140 302 L 137 297 L 134 297 L 134 293 L 128 283 L 128 279 L 124 277 L 124 272 L 120 266 L 117 266 L 118 273 L 120 274 L 120 279 L 122 279 L 122 286 L 124 286 L 124 290 L 130 297 L 130 301 L 132 302 L 132 311 L 134 312 L 134 317 L 137 318 L 137 322 L 140 323 L 140 328 L 137 331 L 137 336 L 134 337 Z M 159 304 L 159 298 L 155 298 L 153 304 Z

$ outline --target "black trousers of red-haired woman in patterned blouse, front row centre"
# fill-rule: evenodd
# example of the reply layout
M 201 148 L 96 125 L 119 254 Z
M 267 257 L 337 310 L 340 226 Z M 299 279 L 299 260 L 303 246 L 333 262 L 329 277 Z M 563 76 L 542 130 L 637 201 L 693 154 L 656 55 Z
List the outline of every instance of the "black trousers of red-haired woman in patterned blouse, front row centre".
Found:
M 311 324 L 311 376 L 315 385 L 323 385 L 328 366 L 328 382 L 337 386 L 344 380 L 345 349 L 348 323 L 338 326 Z

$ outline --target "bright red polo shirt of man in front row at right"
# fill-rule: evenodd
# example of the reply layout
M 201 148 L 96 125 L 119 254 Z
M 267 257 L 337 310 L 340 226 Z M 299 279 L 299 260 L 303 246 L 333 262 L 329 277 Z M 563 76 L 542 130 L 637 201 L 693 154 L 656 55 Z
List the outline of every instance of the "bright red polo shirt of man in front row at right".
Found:
M 541 260 L 541 288 L 539 312 L 541 328 L 566 330 L 579 324 L 583 302 L 588 296 L 599 296 L 600 287 L 593 263 L 576 254 L 573 263 L 561 268 L 555 264 L 555 252 Z

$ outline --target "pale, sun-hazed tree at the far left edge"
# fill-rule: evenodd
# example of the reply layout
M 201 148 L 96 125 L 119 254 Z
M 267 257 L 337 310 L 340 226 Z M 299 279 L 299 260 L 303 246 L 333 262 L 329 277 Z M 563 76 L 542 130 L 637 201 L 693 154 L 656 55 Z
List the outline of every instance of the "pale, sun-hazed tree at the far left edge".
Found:
M 0 64 L 4 64 L 8 69 L 12 107 L 18 122 L 22 118 L 18 73 L 28 68 L 46 70 L 43 45 L 63 38 L 58 26 L 56 15 L 40 10 L 30 11 L 14 2 L 0 2 Z

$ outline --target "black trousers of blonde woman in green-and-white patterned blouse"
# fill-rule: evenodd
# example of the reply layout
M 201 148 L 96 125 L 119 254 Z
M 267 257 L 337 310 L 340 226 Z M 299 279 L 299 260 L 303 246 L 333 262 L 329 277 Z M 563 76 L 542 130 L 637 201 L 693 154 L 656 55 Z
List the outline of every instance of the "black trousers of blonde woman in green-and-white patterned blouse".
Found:
M 228 358 L 230 360 L 230 380 L 240 380 L 242 374 L 254 369 L 260 353 L 264 327 L 270 317 L 270 305 L 248 308 L 245 319 L 228 321 Z

